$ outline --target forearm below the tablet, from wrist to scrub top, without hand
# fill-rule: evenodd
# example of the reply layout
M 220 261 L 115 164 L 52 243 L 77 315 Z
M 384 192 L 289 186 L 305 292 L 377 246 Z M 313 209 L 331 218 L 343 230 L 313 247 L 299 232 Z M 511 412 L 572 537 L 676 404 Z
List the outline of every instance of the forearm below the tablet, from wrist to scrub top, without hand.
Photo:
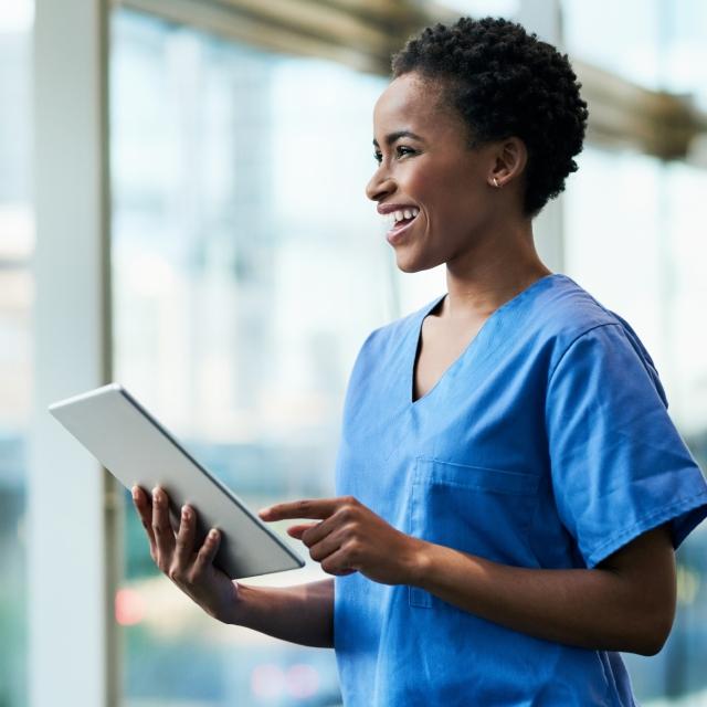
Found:
M 292 643 L 334 647 L 334 580 L 285 588 L 239 583 L 230 623 Z

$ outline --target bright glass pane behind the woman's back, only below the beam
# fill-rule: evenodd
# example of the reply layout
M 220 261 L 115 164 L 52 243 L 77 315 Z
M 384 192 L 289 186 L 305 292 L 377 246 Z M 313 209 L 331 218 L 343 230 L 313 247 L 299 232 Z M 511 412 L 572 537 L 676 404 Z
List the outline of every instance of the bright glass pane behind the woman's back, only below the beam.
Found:
M 566 272 L 634 327 L 652 355 L 669 413 L 707 468 L 707 173 L 585 148 L 563 196 Z M 597 204 L 601 204 L 598 209 Z M 677 551 L 678 609 L 656 656 L 624 654 L 647 707 L 707 704 L 707 527 Z

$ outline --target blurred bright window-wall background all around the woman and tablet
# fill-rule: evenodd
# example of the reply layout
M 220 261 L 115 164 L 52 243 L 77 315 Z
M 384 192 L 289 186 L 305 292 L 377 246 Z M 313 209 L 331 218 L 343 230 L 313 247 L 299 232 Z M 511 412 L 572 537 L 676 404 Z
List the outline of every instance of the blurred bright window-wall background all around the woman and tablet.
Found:
M 569 54 L 589 135 L 538 250 L 633 325 L 707 468 L 707 3 L 0 0 L 0 707 L 339 704 L 331 651 L 158 574 L 45 409 L 118 380 L 253 507 L 330 495 L 358 348 L 445 292 L 365 197 L 373 104 L 461 14 Z M 707 705 L 707 528 L 677 560 L 667 644 L 624 655 L 650 707 Z

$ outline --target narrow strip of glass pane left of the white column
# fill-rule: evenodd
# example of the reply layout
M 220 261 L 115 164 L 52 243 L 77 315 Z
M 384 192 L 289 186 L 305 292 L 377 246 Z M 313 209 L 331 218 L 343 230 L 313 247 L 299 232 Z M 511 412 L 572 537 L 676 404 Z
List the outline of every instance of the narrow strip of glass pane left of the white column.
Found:
M 33 6 L 0 6 L 0 705 L 28 704 L 25 435 L 31 404 Z

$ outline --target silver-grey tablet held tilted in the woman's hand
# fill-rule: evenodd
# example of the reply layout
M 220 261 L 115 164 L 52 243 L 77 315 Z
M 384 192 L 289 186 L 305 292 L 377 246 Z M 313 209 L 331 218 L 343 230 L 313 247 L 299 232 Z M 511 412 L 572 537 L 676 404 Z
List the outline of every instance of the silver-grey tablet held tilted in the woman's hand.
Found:
M 126 488 L 170 499 L 172 527 L 189 504 L 197 511 L 197 544 L 221 531 L 214 564 L 231 579 L 304 567 L 304 561 L 229 488 L 197 462 L 119 383 L 52 403 L 49 411 Z

